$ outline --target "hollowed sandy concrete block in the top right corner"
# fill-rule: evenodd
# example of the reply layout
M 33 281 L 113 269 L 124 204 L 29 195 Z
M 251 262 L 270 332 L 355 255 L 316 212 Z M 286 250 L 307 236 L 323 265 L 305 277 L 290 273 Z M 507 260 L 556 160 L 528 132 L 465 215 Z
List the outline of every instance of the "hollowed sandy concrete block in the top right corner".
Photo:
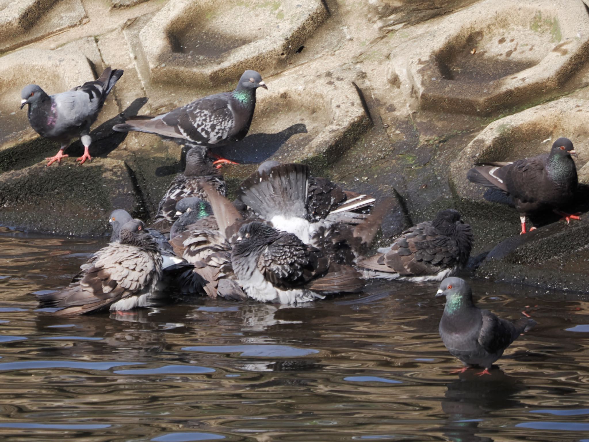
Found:
M 583 2 L 485 0 L 391 54 L 413 108 L 489 114 L 557 90 L 589 55 Z

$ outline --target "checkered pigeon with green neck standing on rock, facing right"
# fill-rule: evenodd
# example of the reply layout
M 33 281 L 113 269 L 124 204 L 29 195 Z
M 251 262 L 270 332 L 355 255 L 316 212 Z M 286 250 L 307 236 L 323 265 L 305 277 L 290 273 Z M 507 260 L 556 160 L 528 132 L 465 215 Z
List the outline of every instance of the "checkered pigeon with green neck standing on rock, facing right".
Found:
M 256 71 L 245 71 L 233 92 L 209 95 L 156 117 L 138 116 L 113 130 L 157 134 L 186 146 L 224 146 L 243 139 L 256 108 L 256 89 L 267 89 Z M 233 161 L 219 158 L 214 164 Z

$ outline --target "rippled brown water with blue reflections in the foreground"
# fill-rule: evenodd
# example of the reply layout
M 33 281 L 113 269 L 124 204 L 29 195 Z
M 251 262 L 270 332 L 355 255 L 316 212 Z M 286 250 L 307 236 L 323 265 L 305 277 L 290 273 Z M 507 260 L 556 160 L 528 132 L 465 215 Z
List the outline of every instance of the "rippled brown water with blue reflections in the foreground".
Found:
M 0 440 L 589 441 L 578 296 L 473 281 L 479 304 L 538 321 L 482 378 L 450 373 L 435 283 L 299 307 L 39 311 L 30 293 L 104 243 L 0 228 Z

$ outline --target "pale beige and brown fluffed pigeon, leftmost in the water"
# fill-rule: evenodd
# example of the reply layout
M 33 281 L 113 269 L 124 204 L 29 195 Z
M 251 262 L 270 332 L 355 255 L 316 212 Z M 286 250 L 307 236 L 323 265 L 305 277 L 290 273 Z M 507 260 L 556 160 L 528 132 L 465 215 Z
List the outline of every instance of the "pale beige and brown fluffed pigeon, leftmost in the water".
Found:
M 120 230 L 120 242 L 109 243 L 90 259 L 80 281 L 54 293 L 37 295 L 41 307 L 60 308 L 56 315 L 75 316 L 110 309 L 125 311 L 150 305 L 162 276 L 157 242 L 141 220 Z

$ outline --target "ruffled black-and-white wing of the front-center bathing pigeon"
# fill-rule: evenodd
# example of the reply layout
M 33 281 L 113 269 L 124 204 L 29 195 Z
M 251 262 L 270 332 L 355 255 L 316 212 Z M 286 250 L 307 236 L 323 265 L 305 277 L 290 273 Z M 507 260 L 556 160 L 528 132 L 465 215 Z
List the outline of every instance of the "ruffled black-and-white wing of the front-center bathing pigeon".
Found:
M 257 268 L 277 288 L 293 289 L 325 274 L 329 259 L 296 235 L 282 233 L 260 254 Z

